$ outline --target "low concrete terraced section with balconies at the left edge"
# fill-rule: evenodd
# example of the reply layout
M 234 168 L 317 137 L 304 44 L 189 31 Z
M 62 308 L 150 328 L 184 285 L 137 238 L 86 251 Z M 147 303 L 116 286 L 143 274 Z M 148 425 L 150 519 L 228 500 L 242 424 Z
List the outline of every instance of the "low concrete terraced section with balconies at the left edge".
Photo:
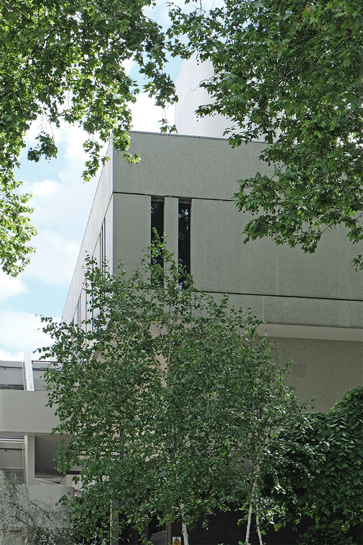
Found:
M 56 504 L 75 494 L 69 479 L 60 475 L 53 460 L 59 435 L 56 407 L 47 407 L 43 370 L 30 354 L 23 361 L 0 361 L 0 469 L 28 487 L 31 498 Z M 22 524 L 6 536 L 6 543 L 23 543 Z

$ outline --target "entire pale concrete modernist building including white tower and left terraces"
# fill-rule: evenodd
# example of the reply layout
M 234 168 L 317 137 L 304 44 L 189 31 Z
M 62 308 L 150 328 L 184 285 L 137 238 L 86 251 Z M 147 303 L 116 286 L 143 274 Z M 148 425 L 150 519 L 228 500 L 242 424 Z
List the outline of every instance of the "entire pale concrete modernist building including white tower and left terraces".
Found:
M 201 73 L 194 65 L 188 73 L 200 81 L 205 70 Z M 353 246 L 344 229 L 335 229 L 324 234 L 313 255 L 269 239 L 245 245 L 240 233 L 249 216 L 235 208 L 233 194 L 236 180 L 257 170 L 267 172 L 268 167 L 258 161 L 264 143 L 232 149 L 216 137 L 227 125 L 225 119 L 207 119 L 198 125 L 190 111 L 203 102 L 203 96 L 199 90 L 198 96 L 192 95 L 196 86 L 185 74 L 179 82 L 177 123 L 181 131 L 204 136 L 132 132 L 130 151 L 142 158 L 137 165 L 126 164 L 122 153 L 109 150 L 111 160 L 100 177 L 63 317 L 79 323 L 86 317 L 87 254 L 100 262 L 106 258 L 114 272 L 121 260 L 130 274 L 158 224 L 196 286 L 217 299 L 228 293 L 234 306 L 250 307 L 263 322 L 261 334 L 267 331 L 273 337 L 282 359 L 294 360 L 289 381 L 297 386 L 298 396 L 315 396 L 316 409 L 328 411 L 362 379 L 363 279 L 351 262 L 363 253 L 363 244 Z M 39 490 L 46 479 L 57 483 L 52 490 L 59 497 L 71 482 L 69 476 L 55 473 L 51 461 L 56 439 L 49 433 L 56 418 L 45 409 L 44 391 L 37 391 L 41 384 L 32 379 L 40 373 L 39 364 L 32 366 L 28 358 L 24 386 L 22 362 L 1 365 L 0 467 L 15 468 Z M 11 378 L 16 374 L 16 379 Z M 12 380 L 20 389 L 11 386 Z M 9 454 L 12 448 L 19 449 L 14 451 L 16 463 L 15 455 Z M 51 485 L 43 488 L 42 497 Z M 171 543 L 171 530 L 158 538 Z M 202 537 L 198 540 L 203 543 Z M 221 542 L 223 536 L 215 540 Z

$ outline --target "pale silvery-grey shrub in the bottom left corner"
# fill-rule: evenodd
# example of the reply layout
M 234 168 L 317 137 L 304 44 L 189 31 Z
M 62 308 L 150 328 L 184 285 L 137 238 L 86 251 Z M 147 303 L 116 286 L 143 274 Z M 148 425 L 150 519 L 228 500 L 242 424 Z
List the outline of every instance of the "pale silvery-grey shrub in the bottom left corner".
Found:
M 70 545 L 68 513 L 59 505 L 34 500 L 26 485 L 8 479 L 0 470 L 0 543 L 6 545 L 9 531 L 21 531 L 26 543 Z

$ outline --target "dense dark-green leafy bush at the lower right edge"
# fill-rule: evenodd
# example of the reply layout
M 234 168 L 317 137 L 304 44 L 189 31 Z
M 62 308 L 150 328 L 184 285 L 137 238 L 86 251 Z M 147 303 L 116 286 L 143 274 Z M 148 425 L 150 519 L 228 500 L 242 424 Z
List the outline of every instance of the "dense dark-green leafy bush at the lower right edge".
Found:
M 357 386 L 330 413 L 307 413 L 305 426 L 281 432 L 297 445 L 283 460 L 281 483 L 293 490 L 301 512 L 320 525 L 340 523 L 345 531 L 363 517 L 362 401 L 363 387 Z M 319 463 L 308 463 L 306 445 Z M 301 468 L 307 466 L 309 472 L 302 476 Z

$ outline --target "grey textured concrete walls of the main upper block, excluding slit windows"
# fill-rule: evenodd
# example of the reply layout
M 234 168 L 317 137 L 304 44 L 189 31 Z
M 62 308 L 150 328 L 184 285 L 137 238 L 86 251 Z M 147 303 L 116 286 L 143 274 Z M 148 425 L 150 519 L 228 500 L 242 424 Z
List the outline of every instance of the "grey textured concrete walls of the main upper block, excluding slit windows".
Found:
M 351 261 L 363 251 L 343 229 L 324 237 L 313 255 L 270 239 L 244 244 L 247 214 L 234 205 L 236 180 L 259 169 L 264 144 L 232 149 L 222 138 L 134 132 L 128 165 L 114 152 L 96 192 L 63 317 L 85 317 L 84 257 L 104 247 L 111 271 L 119 262 L 132 272 L 150 244 L 152 198 L 164 200 L 164 231 L 177 257 L 178 202 L 191 203 L 191 274 L 196 286 L 233 306 L 252 308 L 275 338 L 281 358 L 295 366 L 289 380 L 301 399 L 316 396 L 328 411 L 345 391 L 361 383 L 363 282 Z

